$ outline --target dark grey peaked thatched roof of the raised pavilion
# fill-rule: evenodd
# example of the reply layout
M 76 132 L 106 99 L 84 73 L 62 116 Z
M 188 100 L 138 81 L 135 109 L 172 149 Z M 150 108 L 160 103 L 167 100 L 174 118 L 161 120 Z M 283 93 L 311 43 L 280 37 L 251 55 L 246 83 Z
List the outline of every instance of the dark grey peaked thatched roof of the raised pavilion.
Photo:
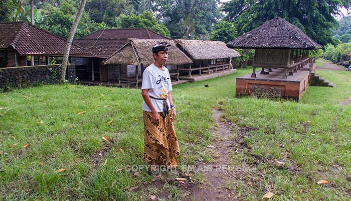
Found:
M 298 27 L 274 18 L 227 44 L 229 48 L 248 49 L 320 49 L 321 45 L 303 33 Z

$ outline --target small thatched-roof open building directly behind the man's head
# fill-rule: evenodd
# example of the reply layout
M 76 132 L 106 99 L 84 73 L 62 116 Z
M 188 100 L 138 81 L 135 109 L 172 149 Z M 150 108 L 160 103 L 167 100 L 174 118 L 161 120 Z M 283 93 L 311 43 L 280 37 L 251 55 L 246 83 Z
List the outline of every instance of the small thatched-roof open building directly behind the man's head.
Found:
M 139 86 L 145 68 L 154 62 L 152 47 L 160 42 L 170 44 L 166 67 L 169 69 L 171 78 L 178 80 L 178 72 L 174 72 L 174 69 L 179 65 L 190 64 L 192 60 L 177 48 L 173 40 L 129 39 L 115 54 L 104 60 L 103 65 L 114 69 L 111 72 L 111 78 L 114 82 L 118 81 L 119 86 Z M 127 72 L 133 72 L 133 77 L 123 76 L 122 69 L 125 67 Z

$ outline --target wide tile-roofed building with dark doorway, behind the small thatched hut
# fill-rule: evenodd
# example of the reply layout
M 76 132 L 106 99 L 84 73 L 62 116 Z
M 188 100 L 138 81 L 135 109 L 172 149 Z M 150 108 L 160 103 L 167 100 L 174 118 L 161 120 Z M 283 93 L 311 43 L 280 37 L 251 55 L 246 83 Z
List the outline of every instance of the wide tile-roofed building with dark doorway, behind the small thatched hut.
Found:
M 118 70 L 116 66 L 103 65 L 102 61 L 111 57 L 128 43 L 129 38 L 169 39 L 146 28 L 99 30 L 76 39 L 73 43 L 89 52 L 89 54 L 81 55 L 80 58 L 72 58 L 72 63 L 76 64 L 78 80 L 88 84 L 109 84 L 109 82 L 116 81 L 115 73 Z M 135 77 L 135 66 L 123 64 L 121 77 L 127 79 Z

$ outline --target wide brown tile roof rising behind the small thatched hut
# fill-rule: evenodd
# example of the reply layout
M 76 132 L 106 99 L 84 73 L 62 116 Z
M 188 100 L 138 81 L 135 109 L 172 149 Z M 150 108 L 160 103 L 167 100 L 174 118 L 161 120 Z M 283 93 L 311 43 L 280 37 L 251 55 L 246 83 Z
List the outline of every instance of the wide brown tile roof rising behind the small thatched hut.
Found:
M 128 42 L 128 38 L 169 39 L 146 28 L 99 30 L 73 42 L 89 51 L 81 57 L 109 58 Z

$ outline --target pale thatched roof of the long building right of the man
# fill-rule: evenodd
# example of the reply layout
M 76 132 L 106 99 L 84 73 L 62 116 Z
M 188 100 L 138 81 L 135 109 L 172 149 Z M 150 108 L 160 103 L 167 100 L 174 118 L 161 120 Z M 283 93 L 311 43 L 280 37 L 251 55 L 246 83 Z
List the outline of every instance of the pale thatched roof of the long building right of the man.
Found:
M 239 57 L 239 52 L 229 49 L 221 41 L 175 40 L 177 47 L 195 60 Z

